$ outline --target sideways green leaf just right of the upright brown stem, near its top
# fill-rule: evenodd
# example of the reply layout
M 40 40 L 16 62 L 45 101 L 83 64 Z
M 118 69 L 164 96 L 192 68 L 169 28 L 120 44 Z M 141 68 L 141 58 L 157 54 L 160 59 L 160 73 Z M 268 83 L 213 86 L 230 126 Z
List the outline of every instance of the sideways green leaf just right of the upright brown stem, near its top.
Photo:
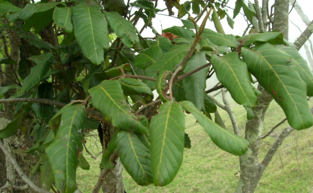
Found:
M 204 29 L 202 35 L 203 38 L 209 39 L 212 43 L 218 46 L 235 47 L 237 48 L 239 43 L 234 35 L 226 35 L 218 32 L 214 32 L 210 29 Z

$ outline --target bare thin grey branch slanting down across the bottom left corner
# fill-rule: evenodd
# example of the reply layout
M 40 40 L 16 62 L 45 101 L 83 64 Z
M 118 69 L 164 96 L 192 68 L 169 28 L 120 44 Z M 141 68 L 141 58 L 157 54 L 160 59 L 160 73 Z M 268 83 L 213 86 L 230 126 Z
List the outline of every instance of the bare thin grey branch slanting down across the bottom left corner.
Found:
M 22 168 L 20 167 L 20 165 L 18 164 L 18 162 L 12 157 L 12 155 L 6 150 L 6 148 L 4 147 L 4 144 L 1 142 L 0 140 L 0 148 L 2 150 L 2 152 L 5 154 L 6 158 L 8 158 L 11 162 L 11 164 L 14 166 L 15 170 L 19 173 L 19 175 L 21 176 L 21 178 L 24 180 L 24 182 L 26 184 L 28 184 L 28 186 L 33 189 L 35 192 L 37 193 L 51 193 L 45 189 L 42 189 L 38 186 L 36 186 L 34 184 L 34 182 L 32 182 L 28 176 L 26 174 L 24 174 L 24 172 L 22 171 Z

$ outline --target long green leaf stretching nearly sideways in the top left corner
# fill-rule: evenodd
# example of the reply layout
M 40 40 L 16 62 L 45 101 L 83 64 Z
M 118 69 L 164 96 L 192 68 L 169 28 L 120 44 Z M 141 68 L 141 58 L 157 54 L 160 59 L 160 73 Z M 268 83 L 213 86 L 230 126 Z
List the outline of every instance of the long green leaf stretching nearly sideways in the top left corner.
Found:
M 15 23 L 17 20 L 26 21 L 27 19 L 32 17 L 35 13 L 48 11 L 50 9 L 53 9 L 58 4 L 67 6 L 64 2 L 28 3 L 21 11 L 14 13 L 14 14 L 7 15 L 6 18 L 9 19 L 9 21 L 12 23 Z

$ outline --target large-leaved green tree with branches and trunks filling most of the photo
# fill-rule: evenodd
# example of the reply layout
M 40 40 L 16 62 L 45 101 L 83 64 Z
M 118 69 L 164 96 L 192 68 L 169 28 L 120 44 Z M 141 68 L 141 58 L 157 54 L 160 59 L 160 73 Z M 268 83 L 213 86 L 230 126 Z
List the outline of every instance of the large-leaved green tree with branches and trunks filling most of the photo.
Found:
M 233 25 L 225 0 L 167 2 L 170 15 L 175 6 L 178 18 L 190 15 L 189 11 L 197 16 L 181 19 L 183 27 L 164 29 L 161 35 L 152 25 L 162 11 L 157 1 L 42 1 L 18 6 L 1 1 L 4 53 L 0 61 L 5 64 L 1 71 L 5 77 L 0 102 L 10 104 L 3 106 L 7 114 L 3 117 L 11 122 L 0 131 L 0 138 L 6 138 L 0 148 L 12 164 L 6 162 L 10 183 L 3 188 L 78 191 L 76 169 L 89 169 L 84 137 L 95 129 L 103 155 L 93 192 L 99 191 L 104 179 L 108 180 L 105 192 L 123 192 L 119 160 L 137 184 L 166 186 L 179 171 L 184 147 L 190 148 L 184 110 L 197 118 L 218 147 L 241 156 L 236 192 L 253 192 L 284 138 L 313 124 L 306 100 L 313 95 L 313 75 L 297 48 L 286 40 L 288 17 L 287 21 L 278 17 L 288 16 L 288 8 L 281 9 L 288 3 L 276 0 L 275 11 L 269 14 L 267 0 L 262 8 L 257 0 L 255 4 L 237 0 L 234 17 L 243 8 L 253 26 L 250 32 L 282 33 L 235 37 L 225 35 L 220 22 L 226 16 Z M 209 17 L 217 32 L 205 28 Z M 144 21 L 140 31 L 139 20 Z M 155 37 L 141 36 L 150 29 Z M 110 39 L 111 33 L 117 38 Z M 205 91 L 213 73 L 222 85 Z M 259 90 L 251 84 L 255 79 Z M 224 105 L 207 95 L 221 88 Z M 226 89 L 247 110 L 246 139 L 239 136 Z M 272 99 L 292 128 L 283 131 L 258 164 L 264 115 Z M 218 116 L 216 104 L 229 113 L 234 134 L 220 120 L 212 120 L 210 113 Z M 31 164 L 38 160 L 34 167 L 20 161 L 27 164 L 21 168 L 16 162 L 13 155 L 24 153 Z M 12 175 L 13 168 L 27 185 Z M 30 179 L 31 168 L 32 174 L 40 174 L 40 182 Z

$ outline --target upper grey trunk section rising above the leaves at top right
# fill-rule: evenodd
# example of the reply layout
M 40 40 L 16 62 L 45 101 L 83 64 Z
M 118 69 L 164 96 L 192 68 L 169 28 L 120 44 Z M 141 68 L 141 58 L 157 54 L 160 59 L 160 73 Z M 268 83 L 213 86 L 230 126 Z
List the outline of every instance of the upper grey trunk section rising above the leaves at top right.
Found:
M 283 33 L 284 39 L 288 40 L 289 0 L 275 0 L 274 7 L 273 30 Z

